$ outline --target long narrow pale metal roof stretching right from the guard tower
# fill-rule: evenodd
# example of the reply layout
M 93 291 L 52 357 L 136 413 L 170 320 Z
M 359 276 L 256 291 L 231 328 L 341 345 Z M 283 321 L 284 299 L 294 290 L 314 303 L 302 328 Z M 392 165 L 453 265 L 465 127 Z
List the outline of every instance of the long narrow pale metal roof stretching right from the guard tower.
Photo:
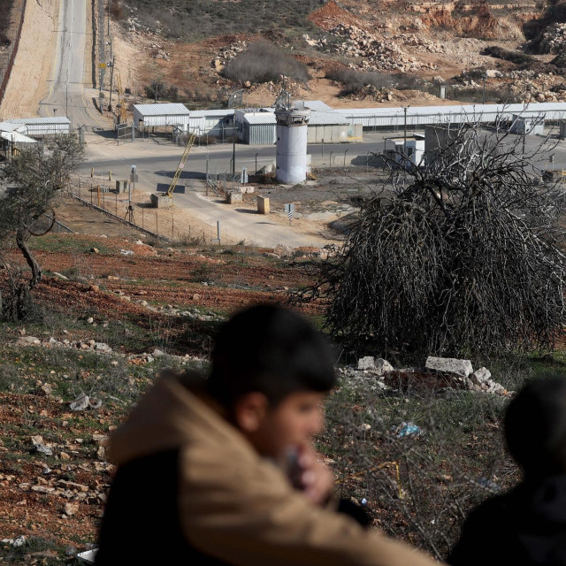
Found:
M 337 108 L 342 116 L 398 116 L 403 109 L 394 108 Z M 521 113 L 524 111 L 566 111 L 566 103 L 531 103 L 531 104 L 458 104 L 447 106 L 413 106 L 407 116 L 427 116 L 431 114 L 468 114 L 470 117 L 490 112 Z

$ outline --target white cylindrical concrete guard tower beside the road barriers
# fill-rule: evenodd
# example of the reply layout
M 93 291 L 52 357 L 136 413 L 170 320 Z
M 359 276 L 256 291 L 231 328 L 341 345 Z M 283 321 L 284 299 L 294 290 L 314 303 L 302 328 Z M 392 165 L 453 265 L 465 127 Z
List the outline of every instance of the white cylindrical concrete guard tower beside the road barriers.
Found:
M 310 109 L 302 101 L 276 108 L 277 173 L 281 183 L 302 183 L 307 179 L 307 138 Z

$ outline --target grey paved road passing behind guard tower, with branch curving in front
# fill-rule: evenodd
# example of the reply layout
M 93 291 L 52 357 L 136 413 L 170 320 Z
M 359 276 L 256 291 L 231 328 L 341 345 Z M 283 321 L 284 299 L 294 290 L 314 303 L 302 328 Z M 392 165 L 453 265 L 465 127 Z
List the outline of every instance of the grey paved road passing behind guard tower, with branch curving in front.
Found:
M 366 164 L 366 158 L 371 151 L 380 152 L 383 149 L 383 138 L 391 134 L 369 134 L 371 142 L 360 144 L 335 144 L 325 145 L 324 155 L 320 145 L 309 146 L 314 166 L 341 167 L 344 164 L 358 164 L 362 168 Z M 529 137 L 526 142 L 527 149 L 534 148 L 540 143 L 540 138 Z M 347 152 L 345 154 L 345 152 Z M 566 142 L 560 142 L 555 151 L 555 167 L 566 167 Z M 171 144 L 158 144 L 156 142 L 135 142 L 120 146 L 109 142 L 89 144 L 88 159 L 84 164 L 83 171 L 90 172 L 94 167 L 97 174 L 104 174 L 111 170 L 114 178 L 126 179 L 132 164 L 137 165 L 139 183 L 136 188 L 152 193 L 157 186 L 164 190 L 169 186 L 172 175 L 177 168 L 182 148 L 176 148 Z M 290 247 L 315 245 L 321 246 L 325 242 L 317 233 L 297 233 L 288 226 L 278 225 L 269 217 L 258 217 L 249 214 L 245 210 L 234 210 L 226 205 L 215 203 L 203 196 L 203 178 L 207 170 L 209 172 L 227 172 L 232 158 L 232 148 L 222 146 L 213 147 L 208 151 L 204 148 L 195 148 L 187 161 L 185 171 L 180 178 L 180 184 L 185 185 L 184 195 L 175 195 L 175 204 L 187 208 L 195 213 L 211 226 L 217 220 L 222 222 L 224 230 L 232 237 L 254 241 L 259 245 L 277 246 L 279 243 Z M 275 147 L 254 148 L 249 146 L 238 146 L 236 149 L 236 169 L 246 165 L 249 172 L 256 170 L 257 166 L 273 163 L 275 160 Z

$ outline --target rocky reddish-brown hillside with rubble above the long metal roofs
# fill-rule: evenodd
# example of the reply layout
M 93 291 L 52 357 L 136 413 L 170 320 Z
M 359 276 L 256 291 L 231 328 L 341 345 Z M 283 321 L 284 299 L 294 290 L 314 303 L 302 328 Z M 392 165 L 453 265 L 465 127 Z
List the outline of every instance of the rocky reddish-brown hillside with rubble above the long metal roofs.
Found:
M 160 92 L 193 108 L 222 106 L 238 88 L 245 105 L 271 105 L 281 79 L 224 72 L 249 45 L 268 41 L 309 69 L 309 80 L 285 78 L 292 96 L 348 107 L 478 103 L 484 77 L 489 103 L 562 100 L 564 61 L 556 56 L 566 41 L 560 9 L 566 3 L 554 4 L 309 0 L 284 9 L 265 0 L 257 9 L 251 0 L 168 0 L 157 13 L 146 0 L 114 0 L 113 12 L 131 102 L 149 96 L 146 87 L 159 76 Z M 533 34 L 537 40 L 526 41 Z M 522 59 L 526 51 L 533 55 Z M 366 74 L 345 83 L 333 78 L 336 67 Z M 447 102 L 437 98 L 440 82 L 447 84 Z

